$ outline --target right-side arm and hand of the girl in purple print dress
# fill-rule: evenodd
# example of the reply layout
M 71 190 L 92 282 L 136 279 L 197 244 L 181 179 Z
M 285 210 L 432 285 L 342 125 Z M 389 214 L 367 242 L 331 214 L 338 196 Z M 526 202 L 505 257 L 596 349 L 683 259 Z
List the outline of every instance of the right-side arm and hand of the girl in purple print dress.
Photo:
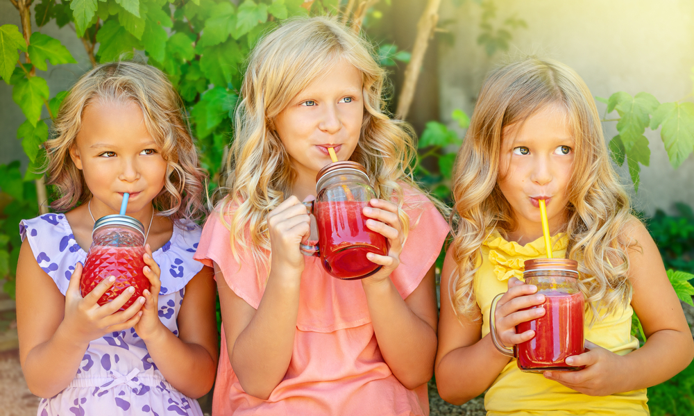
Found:
M 160 269 L 152 259 L 149 244 L 144 261 L 144 274 L 152 282 L 151 291 L 144 290 L 146 302 L 142 319 L 135 325 L 144 340 L 149 356 L 162 376 L 178 391 L 197 399 L 212 389 L 217 371 L 217 316 L 212 269 L 203 267 L 185 285 L 183 303 L 178 311 L 178 337 L 164 326 L 158 315 L 158 293 L 161 288 Z

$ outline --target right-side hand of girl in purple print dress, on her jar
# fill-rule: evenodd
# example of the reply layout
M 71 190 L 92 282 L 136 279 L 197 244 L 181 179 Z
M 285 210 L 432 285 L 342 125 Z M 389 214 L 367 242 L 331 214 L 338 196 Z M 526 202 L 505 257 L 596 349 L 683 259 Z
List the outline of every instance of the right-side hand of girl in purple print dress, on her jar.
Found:
M 142 308 L 142 317 L 135 324 L 135 332 L 139 338 L 146 342 L 158 331 L 162 329 L 168 331 L 168 328 L 159 319 L 159 291 L 162 288 L 162 281 L 160 280 L 162 271 L 152 257 L 152 249 L 149 244 L 145 244 L 144 249 L 146 253 L 142 255 L 142 259 L 146 266 L 142 268 L 142 272 L 149 279 L 150 287 L 149 290 L 145 289 L 142 292 L 144 298 L 139 299 L 140 301 L 144 300 L 144 307 Z

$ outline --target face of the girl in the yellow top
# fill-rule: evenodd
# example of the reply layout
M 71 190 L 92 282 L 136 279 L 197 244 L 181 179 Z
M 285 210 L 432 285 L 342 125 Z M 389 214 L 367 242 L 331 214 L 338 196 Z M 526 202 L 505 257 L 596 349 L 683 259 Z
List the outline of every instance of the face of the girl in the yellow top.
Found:
M 564 224 L 574 149 L 562 106 L 545 106 L 525 123 L 504 127 L 498 184 L 520 235 L 541 235 L 539 199 L 545 199 L 550 230 L 556 232 Z

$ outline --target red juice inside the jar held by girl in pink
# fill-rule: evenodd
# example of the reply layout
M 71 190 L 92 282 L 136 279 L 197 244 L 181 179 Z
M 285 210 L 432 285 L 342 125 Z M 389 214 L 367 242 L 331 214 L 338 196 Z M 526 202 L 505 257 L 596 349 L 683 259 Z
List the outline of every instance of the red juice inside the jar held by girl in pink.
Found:
M 366 253 L 388 253 L 386 238 L 366 228 L 368 217 L 362 210 L 368 205 L 362 201 L 315 203 L 321 259 L 332 276 L 362 278 L 380 269 L 380 265 L 366 258 Z

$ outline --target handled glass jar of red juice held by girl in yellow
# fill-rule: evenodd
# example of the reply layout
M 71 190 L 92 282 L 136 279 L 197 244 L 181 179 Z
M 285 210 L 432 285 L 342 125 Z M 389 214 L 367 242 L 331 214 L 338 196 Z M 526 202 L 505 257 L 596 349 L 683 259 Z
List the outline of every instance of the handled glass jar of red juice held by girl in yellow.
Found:
M 579 367 L 566 364 L 566 358 L 584 352 L 584 297 L 578 287 L 578 263 L 565 258 L 538 258 L 525 260 L 525 284 L 535 285 L 545 301 L 532 308 L 545 308 L 537 319 L 516 326 L 516 333 L 532 330 L 532 339 L 511 349 L 503 346 L 496 335 L 493 313 L 498 295 L 492 302 L 490 330 L 497 349 L 517 359 L 524 372 L 548 370 L 574 371 Z

